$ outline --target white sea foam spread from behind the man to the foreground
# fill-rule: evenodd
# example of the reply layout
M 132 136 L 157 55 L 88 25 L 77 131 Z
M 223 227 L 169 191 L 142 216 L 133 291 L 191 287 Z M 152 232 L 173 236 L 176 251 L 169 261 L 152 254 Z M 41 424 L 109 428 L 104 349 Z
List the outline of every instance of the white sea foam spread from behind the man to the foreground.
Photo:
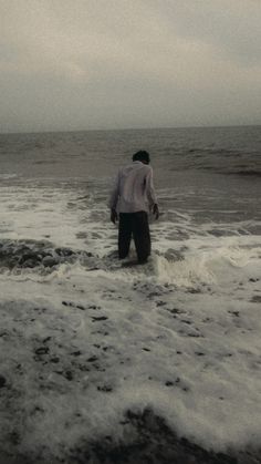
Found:
M 180 214 L 175 225 L 152 225 L 147 265 L 122 268 L 109 257 L 116 229 L 95 198 L 80 208 L 82 190 L 2 187 L 2 194 L 10 230 L 2 238 L 49 236 L 53 246 L 98 255 L 93 267 L 79 259 L 46 274 L 35 268 L 0 275 L 0 326 L 7 332 L 0 338 L 1 373 L 7 394 L 19 386 L 13 414 L 0 424 L 2 437 L 17 427 L 21 448 L 38 453 L 46 446 L 62 456 L 82 440 L 112 431 L 121 436 L 126 409 L 150 406 L 206 447 L 260 444 L 260 236 L 215 237 L 212 224 L 196 227 Z M 34 360 L 49 337 L 59 365 L 49 355 L 46 363 Z M 71 354 L 77 350 L 79 360 Z M 93 355 L 101 370 L 81 370 Z M 98 390 L 106 384 L 112 392 Z

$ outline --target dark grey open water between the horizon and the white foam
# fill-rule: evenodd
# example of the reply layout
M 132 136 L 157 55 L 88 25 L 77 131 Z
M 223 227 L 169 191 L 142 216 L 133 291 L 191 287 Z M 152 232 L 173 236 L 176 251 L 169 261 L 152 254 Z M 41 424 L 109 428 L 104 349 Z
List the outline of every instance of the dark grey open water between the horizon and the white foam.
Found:
M 2 134 L 1 179 L 86 182 L 107 192 L 140 148 L 150 152 L 164 209 L 189 208 L 199 221 L 261 218 L 261 126 Z

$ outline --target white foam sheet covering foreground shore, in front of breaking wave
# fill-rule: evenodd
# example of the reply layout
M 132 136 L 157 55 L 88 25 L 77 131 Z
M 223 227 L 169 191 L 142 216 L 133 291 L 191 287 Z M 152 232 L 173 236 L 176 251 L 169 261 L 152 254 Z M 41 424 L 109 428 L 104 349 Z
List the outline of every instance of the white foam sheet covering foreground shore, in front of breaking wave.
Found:
M 33 451 L 51 446 L 59 455 L 83 436 L 98 437 L 112 430 L 121 435 L 126 409 L 148 406 L 180 435 L 203 446 L 226 450 L 258 444 L 259 306 L 238 299 L 237 293 L 195 296 L 178 288 L 169 292 L 135 272 L 136 287 L 121 274 L 111 279 L 113 272 L 94 276 L 80 266 L 71 272 L 63 269 L 51 280 L 15 280 L 15 286 L 10 276 L 1 276 L 6 298 L 1 327 L 11 334 L 19 320 L 17 342 L 4 341 L 2 373 L 11 384 L 18 382 L 19 372 L 7 362 L 10 359 L 27 372 L 20 399 L 28 417 L 23 446 Z M 35 307 L 40 312 L 34 312 Z M 45 308 L 42 316 L 41 308 Z M 179 312 L 171 312 L 175 308 Z M 237 311 L 239 317 L 233 316 Z M 101 316 L 107 319 L 93 322 L 92 317 Z M 33 350 L 48 337 L 50 357 L 59 354 L 59 367 L 33 361 Z M 95 344 L 108 347 L 107 351 Z M 83 352 L 80 359 L 85 365 L 87 358 L 97 355 L 105 372 L 79 370 L 70 354 L 76 350 Z M 72 370 L 75 381 L 56 374 L 61 367 Z M 166 386 L 167 381 L 173 386 Z M 40 384 L 45 385 L 41 391 Z M 113 392 L 100 392 L 97 386 L 104 384 Z M 43 410 L 41 421 L 33 413 L 35 406 Z

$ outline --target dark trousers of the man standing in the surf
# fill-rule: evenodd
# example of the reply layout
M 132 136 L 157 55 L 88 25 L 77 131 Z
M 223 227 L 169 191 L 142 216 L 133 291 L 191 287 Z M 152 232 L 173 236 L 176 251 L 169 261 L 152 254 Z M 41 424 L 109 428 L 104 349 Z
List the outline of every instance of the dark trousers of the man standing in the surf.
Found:
M 146 261 L 147 257 L 150 255 L 150 234 L 148 227 L 148 215 L 146 212 L 119 213 L 119 259 L 127 257 L 132 237 L 134 238 L 138 261 Z

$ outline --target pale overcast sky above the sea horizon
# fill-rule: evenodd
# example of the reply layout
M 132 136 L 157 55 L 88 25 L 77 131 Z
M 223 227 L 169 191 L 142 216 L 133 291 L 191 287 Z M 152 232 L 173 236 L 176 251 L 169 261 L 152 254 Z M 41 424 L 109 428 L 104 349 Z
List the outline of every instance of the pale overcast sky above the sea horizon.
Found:
M 0 132 L 261 124 L 261 0 L 0 0 Z

